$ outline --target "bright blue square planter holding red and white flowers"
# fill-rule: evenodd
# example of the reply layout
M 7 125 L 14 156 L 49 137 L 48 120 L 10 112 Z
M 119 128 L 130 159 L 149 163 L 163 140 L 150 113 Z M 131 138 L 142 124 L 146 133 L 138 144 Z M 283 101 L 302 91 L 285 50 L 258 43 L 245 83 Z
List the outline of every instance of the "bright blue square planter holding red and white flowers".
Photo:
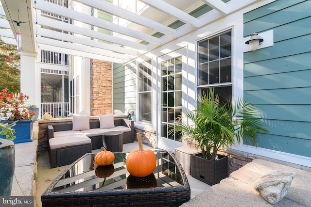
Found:
M 11 124 L 13 122 L 1 122 Z M 33 121 L 32 120 L 24 120 L 17 121 L 16 125 L 12 127 L 15 129 L 14 136 L 16 136 L 14 143 L 27 143 L 32 142 L 33 137 Z M 0 138 L 5 139 L 4 135 L 0 135 Z

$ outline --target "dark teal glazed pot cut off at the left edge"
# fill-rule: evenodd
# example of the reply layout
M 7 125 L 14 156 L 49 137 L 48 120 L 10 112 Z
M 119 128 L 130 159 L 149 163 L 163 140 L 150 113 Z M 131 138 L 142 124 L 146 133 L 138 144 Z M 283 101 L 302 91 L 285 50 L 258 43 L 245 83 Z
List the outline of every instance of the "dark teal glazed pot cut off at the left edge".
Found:
M 0 196 L 11 195 L 15 169 L 14 143 L 0 139 Z

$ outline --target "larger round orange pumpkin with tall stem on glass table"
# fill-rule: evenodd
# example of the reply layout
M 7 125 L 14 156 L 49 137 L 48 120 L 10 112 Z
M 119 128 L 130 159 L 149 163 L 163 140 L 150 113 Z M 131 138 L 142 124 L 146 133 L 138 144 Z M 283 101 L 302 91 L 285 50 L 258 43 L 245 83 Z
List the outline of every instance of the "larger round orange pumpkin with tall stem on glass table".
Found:
M 132 150 L 126 159 L 126 168 L 129 174 L 136 177 L 145 177 L 152 174 L 156 167 L 155 153 L 144 150 L 142 147 L 141 135 L 137 133 L 139 149 Z

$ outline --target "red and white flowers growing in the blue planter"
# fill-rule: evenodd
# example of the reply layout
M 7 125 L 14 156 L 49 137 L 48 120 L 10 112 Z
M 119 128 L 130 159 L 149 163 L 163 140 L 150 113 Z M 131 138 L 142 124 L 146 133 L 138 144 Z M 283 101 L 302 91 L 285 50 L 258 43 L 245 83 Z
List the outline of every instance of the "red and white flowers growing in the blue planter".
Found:
M 20 94 L 9 94 L 6 89 L 0 92 L 0 121 L 30 120 L 35 111 L 28 110 L 25 106 L 29 96 Z

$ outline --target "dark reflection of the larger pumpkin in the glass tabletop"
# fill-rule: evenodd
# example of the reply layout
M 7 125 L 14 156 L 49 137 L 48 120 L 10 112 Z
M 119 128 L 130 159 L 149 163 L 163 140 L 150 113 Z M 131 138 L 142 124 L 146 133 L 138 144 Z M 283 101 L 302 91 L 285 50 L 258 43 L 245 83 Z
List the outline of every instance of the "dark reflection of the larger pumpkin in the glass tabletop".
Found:
M 156 178 L 155 174 L 150 174 L 146 177 L 135 177 L 133 175 L 129 175 L 126 180 L 126 188 L 133 189 L 133 188 L 155 188 Z

